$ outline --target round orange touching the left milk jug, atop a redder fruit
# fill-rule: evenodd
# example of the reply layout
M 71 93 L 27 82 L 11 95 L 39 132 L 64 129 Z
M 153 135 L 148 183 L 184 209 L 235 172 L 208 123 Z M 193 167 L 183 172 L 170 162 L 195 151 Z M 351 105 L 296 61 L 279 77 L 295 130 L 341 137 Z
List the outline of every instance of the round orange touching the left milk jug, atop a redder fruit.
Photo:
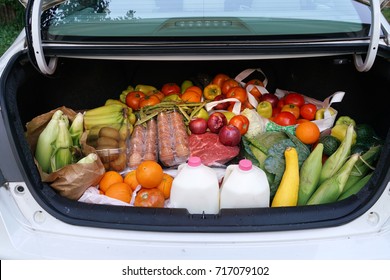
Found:
M 144 188 L 156 188 L 163 179 L 163 169 L 153 160 L 144 160 L 136 169 L 138 183 Z

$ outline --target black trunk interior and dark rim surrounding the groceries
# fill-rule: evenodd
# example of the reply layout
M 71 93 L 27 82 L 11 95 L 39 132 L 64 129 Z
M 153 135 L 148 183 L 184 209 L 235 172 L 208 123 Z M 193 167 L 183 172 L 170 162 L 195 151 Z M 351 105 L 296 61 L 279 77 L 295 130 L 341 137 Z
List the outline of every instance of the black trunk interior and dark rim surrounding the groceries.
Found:
M 88 204 L 60 196 L 42 183 L 33 154 L 25 138 L 26 123 L 60 106 L 75 111 L 98 107 L 108 98 L 117 99 L 128 85 L 151 84 L 157 88 L 199 73 L 226 73 L 235 77 L 248 68 L 260 68 L 268 78 L 267 89 L 300 92 L 324 100 L 344 91 L 342 102 L 332 106 L 338 116 L 368 123 L 385 145 L 374 176 L 357 195 L 316 206 L 223 209 L 217 215 L 189 214 L 185 209 L 139 208 Z M 390 63 L 378 57 L 368 72 L 356 70 L 351 56 L 205 61 L 125 61 L 66 59 L 58 61 L 52 76 L 40 74 L 21 56 L 7 69 L 5 106 L 24 178 L 40 205 L 66 223 L 128 230 L 187 232 L 284 231 L 332 227 L 358 217 L 375 203 L 386 187 L 389 155 L 389 105 L 384 101 L 390 88 Z

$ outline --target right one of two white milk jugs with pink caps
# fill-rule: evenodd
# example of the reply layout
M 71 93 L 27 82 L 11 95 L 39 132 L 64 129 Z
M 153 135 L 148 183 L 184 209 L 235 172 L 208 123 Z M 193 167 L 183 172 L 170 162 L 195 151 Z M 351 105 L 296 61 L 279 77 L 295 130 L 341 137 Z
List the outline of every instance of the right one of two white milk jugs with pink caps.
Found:
M 220 189 L 220 207 L 269 207 L 270 188 L 263 170 L 247 159 L 226 168 Z

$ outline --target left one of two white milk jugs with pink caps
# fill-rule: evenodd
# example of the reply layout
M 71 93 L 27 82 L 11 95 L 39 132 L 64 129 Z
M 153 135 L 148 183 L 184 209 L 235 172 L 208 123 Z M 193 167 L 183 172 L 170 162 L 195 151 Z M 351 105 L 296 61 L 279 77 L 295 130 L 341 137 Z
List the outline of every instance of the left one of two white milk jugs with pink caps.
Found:
M 187 163 L 178 167 L 169 203 L 170 207 L 186 208 L 191 214 L 218 214 L 217 173 L 203 165 L 199 157 L 190 157 Z

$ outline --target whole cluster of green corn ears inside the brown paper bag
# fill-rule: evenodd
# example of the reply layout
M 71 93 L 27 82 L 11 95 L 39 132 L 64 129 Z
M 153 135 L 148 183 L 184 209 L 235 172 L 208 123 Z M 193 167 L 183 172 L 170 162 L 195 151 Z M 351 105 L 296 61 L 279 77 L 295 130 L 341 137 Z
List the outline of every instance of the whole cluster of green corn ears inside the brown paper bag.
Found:
M 84 131 L 83 114 L 78 113 L 69 127 L 68 117 L 57 110 L 40 133 L 35 159 L 43 172 L 51 173 L 78 160 L 80 137 Z

